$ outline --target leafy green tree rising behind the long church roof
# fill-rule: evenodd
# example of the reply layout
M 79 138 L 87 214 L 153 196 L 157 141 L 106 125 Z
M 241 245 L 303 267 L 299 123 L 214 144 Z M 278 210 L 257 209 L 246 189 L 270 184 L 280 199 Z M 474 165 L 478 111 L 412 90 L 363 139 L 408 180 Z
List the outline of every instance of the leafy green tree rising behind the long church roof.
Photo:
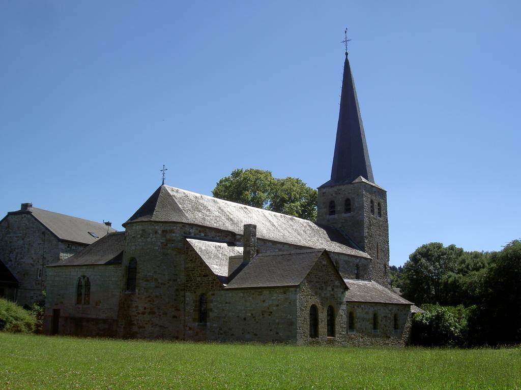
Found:
M 214 197 L 308 220 L 317 218 L 317 190 L 298 178 L 277 179 L 270 171 L 238 168 L 221 178 Z

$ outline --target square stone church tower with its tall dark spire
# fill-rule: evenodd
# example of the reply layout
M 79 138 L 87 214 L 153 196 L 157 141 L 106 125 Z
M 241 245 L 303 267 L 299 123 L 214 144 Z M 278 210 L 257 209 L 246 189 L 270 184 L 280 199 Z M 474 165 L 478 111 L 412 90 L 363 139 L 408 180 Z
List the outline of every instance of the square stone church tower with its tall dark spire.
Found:
M 341 229 L 373 258 L 361 277 L 390 288 L 387 193 L 373 177 L 347 52 L 331 180 L 318 188 L 317 212 L 318 224 Z

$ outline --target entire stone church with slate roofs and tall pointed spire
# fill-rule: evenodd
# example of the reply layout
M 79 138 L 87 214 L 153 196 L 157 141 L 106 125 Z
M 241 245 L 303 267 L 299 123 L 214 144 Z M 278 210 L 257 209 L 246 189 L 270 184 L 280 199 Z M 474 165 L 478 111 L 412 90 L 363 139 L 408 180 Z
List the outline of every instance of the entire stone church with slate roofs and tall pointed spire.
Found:
M 318 218 L 162 185 L 127 220 L 47 266 L 45 332 L 194 341 L 404 345 L 390 290 L 386 191 L 375 184 L 346 53 Z

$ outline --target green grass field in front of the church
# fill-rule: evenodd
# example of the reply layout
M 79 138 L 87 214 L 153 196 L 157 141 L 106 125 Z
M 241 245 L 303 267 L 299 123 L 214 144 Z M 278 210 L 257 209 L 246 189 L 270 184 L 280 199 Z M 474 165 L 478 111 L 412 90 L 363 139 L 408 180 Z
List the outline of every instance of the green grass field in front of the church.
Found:
M 521 348 L 338 348 L 0 333 L 0 388 L 521 388 Z

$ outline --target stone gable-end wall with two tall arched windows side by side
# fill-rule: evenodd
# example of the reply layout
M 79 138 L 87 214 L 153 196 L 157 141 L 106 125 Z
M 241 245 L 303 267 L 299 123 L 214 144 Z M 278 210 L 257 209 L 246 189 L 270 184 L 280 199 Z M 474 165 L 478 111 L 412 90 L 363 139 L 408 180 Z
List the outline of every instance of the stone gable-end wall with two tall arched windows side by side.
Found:
M 322 254 L 297 293 L 297 344 L 345 345 L 345 291 L 346 287 L 328 256 Z M 318 338 L 309 337 L 309 309 L 318 308 Z M 335 336 L 327 336 L 327 308 L 335 315 Z

